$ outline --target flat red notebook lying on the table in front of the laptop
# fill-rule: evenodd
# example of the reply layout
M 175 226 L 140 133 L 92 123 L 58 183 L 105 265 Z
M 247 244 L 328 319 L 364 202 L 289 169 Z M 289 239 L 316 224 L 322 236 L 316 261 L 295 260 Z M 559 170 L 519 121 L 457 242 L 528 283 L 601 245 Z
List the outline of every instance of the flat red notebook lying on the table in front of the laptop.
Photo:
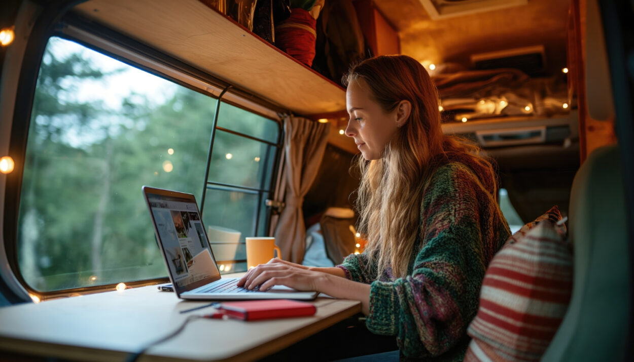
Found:
M 227 302 L 220 304 L 216 308 L 224 315 L 242 320 L 311 316 L 317 311 L 311 303 L 290 301 L 288 299 Z

